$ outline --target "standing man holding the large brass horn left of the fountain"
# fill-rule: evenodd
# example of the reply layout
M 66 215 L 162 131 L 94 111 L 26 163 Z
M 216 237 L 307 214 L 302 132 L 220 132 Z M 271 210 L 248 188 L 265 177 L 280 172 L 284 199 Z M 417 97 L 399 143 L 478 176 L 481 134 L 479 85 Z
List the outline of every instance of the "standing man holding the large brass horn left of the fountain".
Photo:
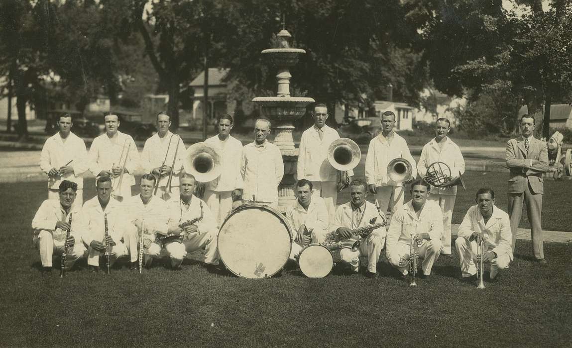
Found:
M 243 144 L 230 135 L 233 126 L 231 115 L 219 117 L 217 125 L 219 134 L 206 139 L 205 143 L 217 149 L 221 154 L 222 170 L 220 177 L 205 184 L 203 198 L 220 226 L 232 210 L 233 190 L 243 188 L 243 178 L 240 174 Z M 240 191 L 235 194 L 240 194 Z

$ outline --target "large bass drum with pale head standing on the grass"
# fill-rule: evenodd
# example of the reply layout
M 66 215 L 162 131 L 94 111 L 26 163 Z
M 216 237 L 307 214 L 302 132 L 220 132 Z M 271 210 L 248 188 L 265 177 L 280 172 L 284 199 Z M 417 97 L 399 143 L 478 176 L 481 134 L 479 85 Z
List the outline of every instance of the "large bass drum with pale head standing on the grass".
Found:
M 292 231 L 271 207 L 242 205 L 225 218 L 218 242 L 220 259 L 229 271 L 243 278 L 267 278 L 288 261 Z

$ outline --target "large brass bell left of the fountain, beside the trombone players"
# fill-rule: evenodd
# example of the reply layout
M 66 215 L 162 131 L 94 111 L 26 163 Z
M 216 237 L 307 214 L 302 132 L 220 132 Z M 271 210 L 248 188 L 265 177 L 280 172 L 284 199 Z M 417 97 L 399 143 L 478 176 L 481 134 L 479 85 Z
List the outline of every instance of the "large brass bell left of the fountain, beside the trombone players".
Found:
M 183 167 L 198 182 L 210 182 L 221 173 L 221 154 L 204 142 L 194 143 L 186 149 Z

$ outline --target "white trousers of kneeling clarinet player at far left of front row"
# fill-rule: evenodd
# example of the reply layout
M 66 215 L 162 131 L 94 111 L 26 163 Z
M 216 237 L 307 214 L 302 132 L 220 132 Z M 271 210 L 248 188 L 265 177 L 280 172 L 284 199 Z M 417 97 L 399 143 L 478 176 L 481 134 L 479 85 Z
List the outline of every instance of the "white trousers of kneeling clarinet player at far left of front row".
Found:
M 43 267 L 51 267 L 54 254 L 61 255 L 63 253 L 65 241 L 54 240 L 50 231 L 40 230 L 37 235 L 34 235 L 33 241 L 34 245 L 38 246 L 39 258 Z M 66 269 L 72 268 L 78 259 L 84 257 L 85 251 L 84 244 L 76 238 L 73 249 L 68 250 L 66 256 Z

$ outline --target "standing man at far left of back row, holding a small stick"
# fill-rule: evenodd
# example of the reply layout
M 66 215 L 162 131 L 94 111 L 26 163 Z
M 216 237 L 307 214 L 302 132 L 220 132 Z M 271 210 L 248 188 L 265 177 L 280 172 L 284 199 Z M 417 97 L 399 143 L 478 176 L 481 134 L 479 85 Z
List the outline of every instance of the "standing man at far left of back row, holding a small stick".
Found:
M 59 184 L 62 180 L 77 183 L 74 204 L 81 207 L 84 202 L 84 177 L 88 170 L 88 151 L 84 139 L 72 133 L 73 121 L 70 114 L 59 117 L 59 131 L 46 139 L 39 157 L 39 167 L 47 174 L 47 198 L 59 198 Z

